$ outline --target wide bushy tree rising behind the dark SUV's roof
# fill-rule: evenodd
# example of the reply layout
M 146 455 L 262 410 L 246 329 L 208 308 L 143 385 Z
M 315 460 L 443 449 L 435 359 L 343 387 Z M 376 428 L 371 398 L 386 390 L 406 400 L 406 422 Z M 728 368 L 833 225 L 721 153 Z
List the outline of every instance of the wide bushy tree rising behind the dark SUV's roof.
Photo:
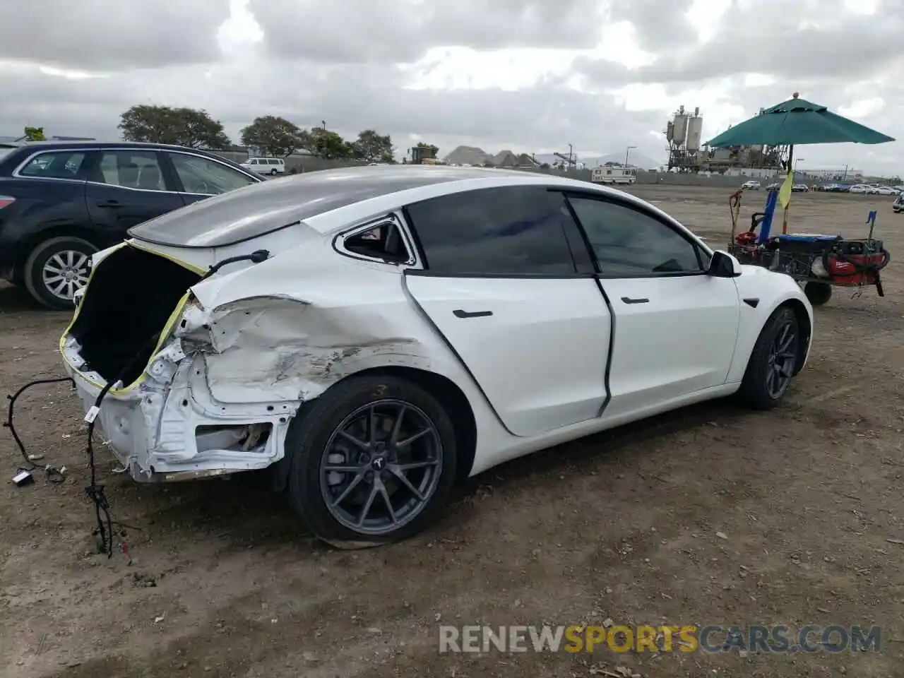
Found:
M 126 141 L 213 150 L 231 146 L 222 123 L 211 118 L 207 111 L 195 108 L 139 104 L 122 114 L 119 129 Z

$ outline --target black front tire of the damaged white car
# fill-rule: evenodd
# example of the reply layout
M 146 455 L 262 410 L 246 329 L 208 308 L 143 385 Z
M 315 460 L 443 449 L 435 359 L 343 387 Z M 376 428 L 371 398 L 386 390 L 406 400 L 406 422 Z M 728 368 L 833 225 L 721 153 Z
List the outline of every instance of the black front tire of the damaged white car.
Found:
M 790 375 L 794 373 L 797 361 L 800 360 L 801 335 L 798 325 L 794 311 L 787 306 L 779 306 L 772 315 L 769 315 L 766 324 L 760 330 L 739 389 L 740 398 L 754 410 L 772 410 L 785 398 L 793 379 Z M 792 357 L 782 358 L 783 362 L 778 365 L 782 368 L 782 374 L 786 375 L 786 383 L 780 392 L 775 392 L 769 387 L 769 372 L 777 372 L 775 348 L 786 327 L 795 337 L 790 351 L 785 352 L 792 353 Z

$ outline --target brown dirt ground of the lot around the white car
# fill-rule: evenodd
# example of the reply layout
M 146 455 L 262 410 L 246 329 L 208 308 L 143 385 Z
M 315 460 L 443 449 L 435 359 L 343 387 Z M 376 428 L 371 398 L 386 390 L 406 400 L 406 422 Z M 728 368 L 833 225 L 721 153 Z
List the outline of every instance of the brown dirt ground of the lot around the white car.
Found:
M 711 244 L 727 192 L 640 186 Z M 763 193 L 745 196 L 744 220 Z M 890 198 L 796 195 L 792 229 L 862 235 L 892 259 Z M 8 482 L 0 432 L 0 675 L 904 675 L 904 267 L 886 297 L 839 293 L 790 400 L 712 402 L 526 457 L 472 479 L 443 521 L 388 548 L 301 533 L 260 476 L 170 486 L 100 474 L 131 563 L 96 553 L 78 404 L 33 389 L 16 422 L 68 479 Z M 66 314 L 0 288 L 0 392 L 62 374 Z M 5 469 L 5 470 L 3 470 Z M 891 540 L 891 541 L 890 541 Z M 880 652 L 438 654 L 438 625 L 881 626 Z

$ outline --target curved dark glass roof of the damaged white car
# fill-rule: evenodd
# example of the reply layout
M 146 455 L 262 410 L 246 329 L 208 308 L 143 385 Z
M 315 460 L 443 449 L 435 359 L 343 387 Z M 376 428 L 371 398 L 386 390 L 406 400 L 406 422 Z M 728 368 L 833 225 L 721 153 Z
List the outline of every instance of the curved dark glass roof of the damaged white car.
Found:
M 444 165 L 366 165 L 308 172 L 274 179 L 223 193 L 175 212 L 167 212 L 129 231 L 138 240 L 174 247 L 225 247 L 288 225 L 306 221 L 315 231 L 328 231 L 311 223 L 325 213 L 369 203 L 362 209 L 382 210 L 379 199 L 399 207 L 432 197 L 438 184 L 467 187 L 549 184 L 604 192 L 602 187 L 550 174 L 484 167 Z M 451 186 L 450 186 L 451 189 Z M 451 189 L 454 192 L 456 189 Z M 443 190 L 440 193 L 448 193 Z M 621 194 L 611 189 L 608 193 Z M 404 196 L 396 193 L 405 193 Z M 390 197 L 392 196 L 392 197 Z M 328 221 L 328 220 L 327 220 Z M 213 225 L 212 225 L 213 224 Z

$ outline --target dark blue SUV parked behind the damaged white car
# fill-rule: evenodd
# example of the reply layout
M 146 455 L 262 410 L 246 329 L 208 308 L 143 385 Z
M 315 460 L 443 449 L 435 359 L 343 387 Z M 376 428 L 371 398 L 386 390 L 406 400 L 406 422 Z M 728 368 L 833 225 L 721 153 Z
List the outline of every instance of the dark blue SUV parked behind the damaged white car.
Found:
M 5 149 L 0 149 L 5 150 Z M 71 308 L 90 256 L 132 226 L 262 182 L 217 155 L 159 144 L 37 142 L 0 157 L 0 278 Z

